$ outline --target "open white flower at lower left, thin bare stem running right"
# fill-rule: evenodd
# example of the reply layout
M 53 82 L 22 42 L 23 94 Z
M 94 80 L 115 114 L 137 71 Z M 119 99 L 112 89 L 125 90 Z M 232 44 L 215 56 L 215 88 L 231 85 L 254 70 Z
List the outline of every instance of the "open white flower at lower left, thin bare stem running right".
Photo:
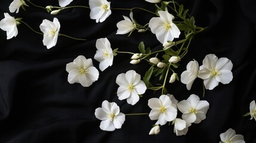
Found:
M 113 131 L 121 129 L 125 122 L 125 114 L 120 112 L 119 106 L 115 102 L 103 101 L 102 108 L 95 109 L 95 116 L 97 119 L 102 120 L 100 129 Z

